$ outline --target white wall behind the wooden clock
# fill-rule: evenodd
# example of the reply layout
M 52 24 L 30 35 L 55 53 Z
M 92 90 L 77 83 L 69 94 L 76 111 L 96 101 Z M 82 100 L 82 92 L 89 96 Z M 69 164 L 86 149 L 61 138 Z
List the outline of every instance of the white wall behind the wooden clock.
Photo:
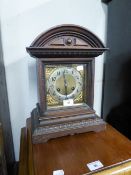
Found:
M 35 60 L 26 53 L 34 38 L 52 26 L 78 24 L 105 43 L 107 7 L 101 0 L 2 0 L 1 29 L 16 160 L 20 129 L 37 102 Z M 96 59 L 95 102 L 101 109 L 103 56 Z

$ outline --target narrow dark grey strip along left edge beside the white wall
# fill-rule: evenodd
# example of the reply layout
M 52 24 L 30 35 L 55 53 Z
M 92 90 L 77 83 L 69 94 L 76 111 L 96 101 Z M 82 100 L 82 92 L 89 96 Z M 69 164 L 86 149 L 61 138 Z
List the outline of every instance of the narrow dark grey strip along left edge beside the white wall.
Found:
M 1 22 L 1 21 L 0 21 Z M 8 172 L 13 171 L 15 164 L 14 145 L 12 137 L 12 128 L 10 122 L 10 110 L 8 104 L 8 93 L 6 86 L 5 65 L 3 60 L 3 48 L 1 39 L 1 23 L 0 23 L 0 123 L 2 124 L 4 152 Z M 1 151 L 0 151 L 0 166 L 1 166 Z M 1 167 L 0 167 L 1 168 Z M 1 175 L 0 171 L 0 175 Z M 3 174 L 3 173 L 2 173 Z

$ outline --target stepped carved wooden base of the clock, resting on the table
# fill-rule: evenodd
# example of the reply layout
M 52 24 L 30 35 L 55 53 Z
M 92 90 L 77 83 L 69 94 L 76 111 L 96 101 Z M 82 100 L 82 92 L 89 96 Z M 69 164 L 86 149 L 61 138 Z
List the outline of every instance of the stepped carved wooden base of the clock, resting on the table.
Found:
M 37 104 L 31 113 L 32 142 L 34 144 L 67 135 L 90 131 L 99 132 L 105 128 L 106 122 L 98 117 L 91 108 L 88 114 L 44 119 L 39 104 Z

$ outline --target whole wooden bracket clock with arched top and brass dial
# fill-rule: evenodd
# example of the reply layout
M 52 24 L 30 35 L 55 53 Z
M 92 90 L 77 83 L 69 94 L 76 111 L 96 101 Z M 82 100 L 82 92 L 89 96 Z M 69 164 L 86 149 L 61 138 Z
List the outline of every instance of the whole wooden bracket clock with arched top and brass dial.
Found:
M 88 131 L 106 123 L 93 110 L 95 57 L 107 48 L 92 32 L 61 25 L 27 47 L 37 60 L 39 102 L 31 114 L 33 143 Z

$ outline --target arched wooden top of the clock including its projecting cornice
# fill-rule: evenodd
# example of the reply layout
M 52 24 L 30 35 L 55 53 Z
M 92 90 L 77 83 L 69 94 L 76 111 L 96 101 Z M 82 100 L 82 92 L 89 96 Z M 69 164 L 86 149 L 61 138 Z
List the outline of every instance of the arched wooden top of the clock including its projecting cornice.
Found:
M 96 35 L 76 25 L 56 26 L 39 35 L 26 49 L 32 57 L 43 61 L 69 57 L 86 61 L 85 58 L 97 57 L 107 50 Z

